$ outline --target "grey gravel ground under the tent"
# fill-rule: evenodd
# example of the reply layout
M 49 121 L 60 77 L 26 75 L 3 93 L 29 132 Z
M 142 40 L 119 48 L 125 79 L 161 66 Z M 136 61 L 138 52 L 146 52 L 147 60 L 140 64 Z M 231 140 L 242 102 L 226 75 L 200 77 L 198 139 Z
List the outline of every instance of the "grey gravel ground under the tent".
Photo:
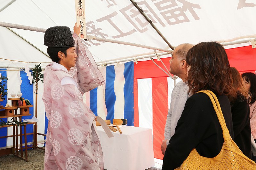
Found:
M 43 169 L 44 169 L 44 151 L 41 149 L 28 150 L 28 162 L 12 154 L 0 157 L 0 170 L 43 170 Z M 147 170 L 160 170 L 160 168 L 152 167 Z

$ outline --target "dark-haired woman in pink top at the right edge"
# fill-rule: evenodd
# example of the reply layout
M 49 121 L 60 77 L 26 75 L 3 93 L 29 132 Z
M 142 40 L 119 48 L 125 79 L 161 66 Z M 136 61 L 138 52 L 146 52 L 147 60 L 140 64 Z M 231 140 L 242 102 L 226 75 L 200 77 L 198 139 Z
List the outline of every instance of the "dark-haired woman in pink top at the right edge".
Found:
M 243 84 L 245 91 L 248 92 L 248 103 L 250 106 L 250 122 L 251 122 L 251 132 L 254 139 L 252 145 L 256 142 L 256 75 L 254 73 L 243 73 Z M 253 149 L 253 148 L 252 148 Z M 254 155 L 256 155 L 254 153 Z M 256 156 L 252 154 L 252 160 L 256 161 Z

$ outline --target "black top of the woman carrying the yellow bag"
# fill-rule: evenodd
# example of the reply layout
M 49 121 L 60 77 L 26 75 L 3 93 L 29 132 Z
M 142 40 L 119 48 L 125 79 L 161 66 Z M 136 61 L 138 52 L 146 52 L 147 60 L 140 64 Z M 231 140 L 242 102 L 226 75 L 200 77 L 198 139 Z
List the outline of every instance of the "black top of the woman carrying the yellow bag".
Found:
M 220 107 L 230 136 L 234 139 L 230 102 L 226 95 L 218 96 Z M 196 93 L 188 98 L 175 133 L 167 146 L 163 170 L 179 167 L 192 149 L 204 157 L 213 158 L 220 153 L 224 139 L 212 102 L 207 94 Z

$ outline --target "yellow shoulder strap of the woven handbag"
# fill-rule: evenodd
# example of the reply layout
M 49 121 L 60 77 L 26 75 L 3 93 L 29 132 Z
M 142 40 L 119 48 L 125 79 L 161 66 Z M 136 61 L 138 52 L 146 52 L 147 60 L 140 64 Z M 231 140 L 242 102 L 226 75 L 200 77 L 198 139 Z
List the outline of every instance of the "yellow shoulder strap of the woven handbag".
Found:
M 231 136 L 229 134 L 225 119 L 223 117 L 223 114 L 222 114 L 222 111 L 221 111 L 221 108 L 220 108 L 219 100 L 216 97 L 216 95 L 210 90 L 201 90 L 199 92 L 203 92 L 203 93 L 207 94 L 210 97 L 210 99 L 212 101 L 213 108 L 214 108 L 214 110 L 217 114 L 217 117 L 219 119 L 219 122 L 220 122 L 220 126 L 221 126 L 221 129 L 222 129 L 222 135 L 223 135 L 224 141 L 231 139 Z

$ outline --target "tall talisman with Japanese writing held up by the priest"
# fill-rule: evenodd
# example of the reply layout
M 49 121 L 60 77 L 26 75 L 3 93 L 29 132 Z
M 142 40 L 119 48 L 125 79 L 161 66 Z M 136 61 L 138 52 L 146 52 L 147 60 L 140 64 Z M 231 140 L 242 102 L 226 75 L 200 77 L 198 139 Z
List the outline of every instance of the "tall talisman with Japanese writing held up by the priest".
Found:
M 75 0 L 76 6 L 76 23 L 77 26 L 81 25 L 79 38 L 86 39 L 86 28 L 85 28 L 85 2 L 84 0 Z

